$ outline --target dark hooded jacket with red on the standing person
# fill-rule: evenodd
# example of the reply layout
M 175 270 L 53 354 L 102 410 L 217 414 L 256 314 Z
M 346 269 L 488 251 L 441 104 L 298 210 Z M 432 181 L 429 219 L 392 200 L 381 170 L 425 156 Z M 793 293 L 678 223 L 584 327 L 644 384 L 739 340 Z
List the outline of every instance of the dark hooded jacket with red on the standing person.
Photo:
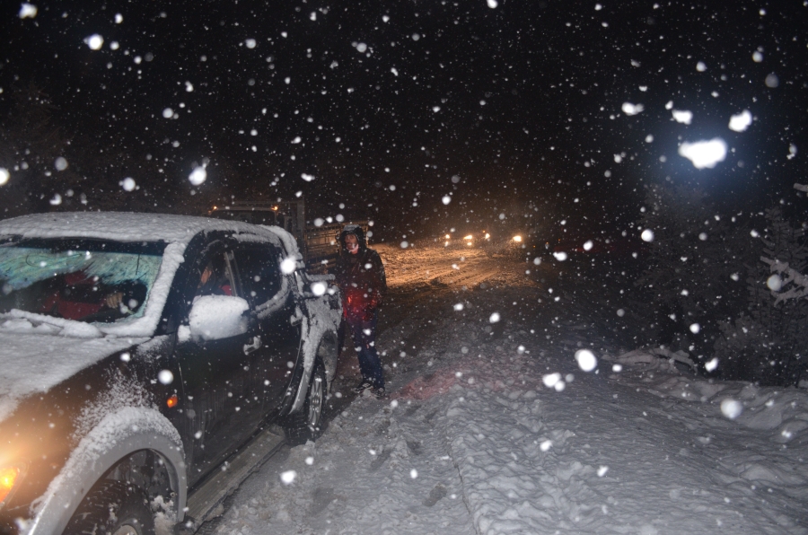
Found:
M 351 254 L 345 247 L 347 234 L 354 234 L 359 241 L 359 252 L 356 254 Z M 364 231 L 359 225 L 347 224 L 339 234 L 339 257 L 334 276 L 342 289 L 347 317 L 363 319 L 382 304 L 387 292 L 382 258 L 375 250 L 367 248 Z

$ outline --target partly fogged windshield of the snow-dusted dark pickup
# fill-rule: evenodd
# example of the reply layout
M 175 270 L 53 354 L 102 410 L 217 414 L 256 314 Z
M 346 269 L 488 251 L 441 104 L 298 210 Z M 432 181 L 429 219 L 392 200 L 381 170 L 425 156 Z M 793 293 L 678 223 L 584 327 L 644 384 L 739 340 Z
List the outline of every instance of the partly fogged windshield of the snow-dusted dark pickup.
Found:
M 0 246 L 0 312 L 112 323 L 143 315 L 162 243 L 26 241 Z

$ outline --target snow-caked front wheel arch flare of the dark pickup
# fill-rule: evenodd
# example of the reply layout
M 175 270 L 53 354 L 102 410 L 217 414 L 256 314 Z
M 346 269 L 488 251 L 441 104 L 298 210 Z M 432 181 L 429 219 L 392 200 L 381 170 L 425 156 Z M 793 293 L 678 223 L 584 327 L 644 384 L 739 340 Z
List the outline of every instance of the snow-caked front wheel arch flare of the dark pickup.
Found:
M 182 441 L 168 418 L 154 408 L 124 407 L 105 416 L 84 435 L 45 494 L 31 505 L 29 535 L 52 535 L 67 522 L 93 485 L 120 460 L 151 450 L 168 472 L 177 521 L 181 522 L 188 498 L 188 480 Z

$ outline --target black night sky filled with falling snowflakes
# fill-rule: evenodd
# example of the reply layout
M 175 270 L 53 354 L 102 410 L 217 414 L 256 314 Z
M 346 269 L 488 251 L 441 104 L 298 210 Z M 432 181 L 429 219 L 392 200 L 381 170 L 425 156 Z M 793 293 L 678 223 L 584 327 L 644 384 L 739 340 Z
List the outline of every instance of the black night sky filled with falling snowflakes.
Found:
M 648 184 L 701 187 L 732 211 L 795 202 L 808 181 L 802 1 L 34 4 L 35 18 L 0 13 L 0 110 L 30 83 L 48 95 L 66 158 L 105 185 L 88 186 L 91 207 L 124 177 L 140 187 L 125 204 L 151 193 L 168 212 L 302 191 L 310 215 L 370 216 L 392 239 L 510 230 L 529 209 L 625 228 Z M 100 50 L 84 42 L 96 33 Z M 755 120 L 733 132 L 742 110 Z M 677 153 L 716 136 L 730 152 L 714 169 Z M 91 145 L 120 156 L 94 166 Z M 13 171 L 26 157 L 0 167 L 45 180 Z

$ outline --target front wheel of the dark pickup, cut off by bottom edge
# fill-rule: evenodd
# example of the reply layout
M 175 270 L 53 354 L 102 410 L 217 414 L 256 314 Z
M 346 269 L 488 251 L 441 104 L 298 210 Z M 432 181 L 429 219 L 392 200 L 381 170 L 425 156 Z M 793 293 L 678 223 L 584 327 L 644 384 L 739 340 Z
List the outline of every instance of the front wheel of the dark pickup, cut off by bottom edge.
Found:
M 154 515 L 145 491 L 112 479 L 96 483 L 65 528 L 65 535 L 83 533 L 154 535 Z

